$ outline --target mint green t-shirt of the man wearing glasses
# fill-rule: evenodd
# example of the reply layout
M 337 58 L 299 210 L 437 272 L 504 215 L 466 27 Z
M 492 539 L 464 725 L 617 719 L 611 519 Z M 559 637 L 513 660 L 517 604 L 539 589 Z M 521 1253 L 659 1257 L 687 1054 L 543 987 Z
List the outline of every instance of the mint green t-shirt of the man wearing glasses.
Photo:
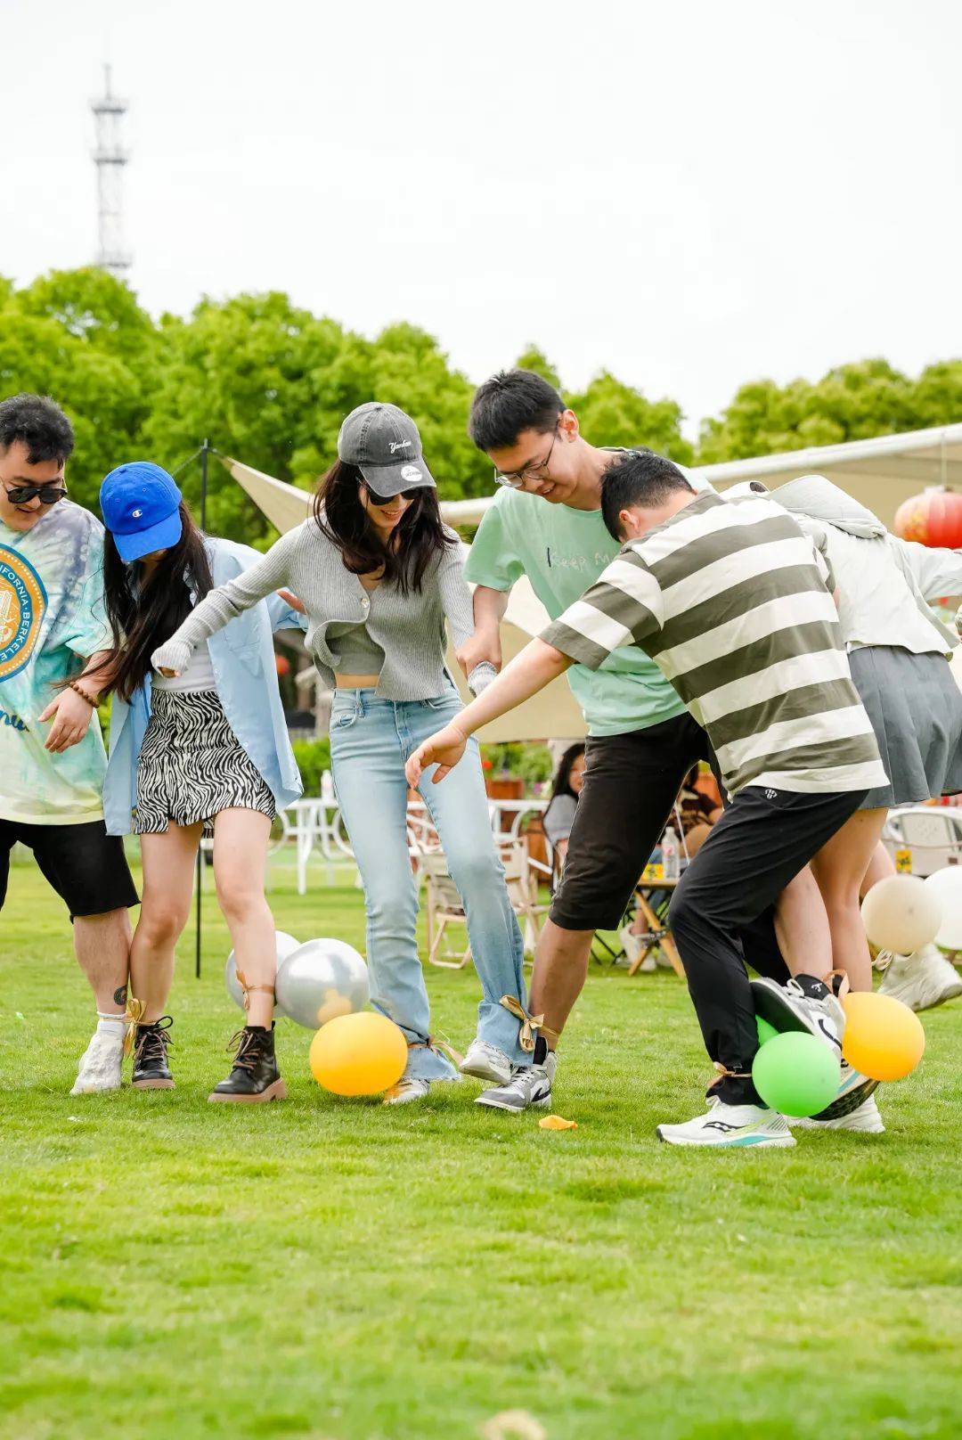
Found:
M 527 575 L 554 621 L 619 550 L 601 510 L 550 505 L 537 495 L 503 487 L 484 514 L 464 573 L 471 585 L 491 590 L 510 590 Z M 596 671 L 572 665 L 567 681 L 585 711 L 589 734 L 645 730 L 684 711 L 658 667 L 637 645 L 612 651 Z

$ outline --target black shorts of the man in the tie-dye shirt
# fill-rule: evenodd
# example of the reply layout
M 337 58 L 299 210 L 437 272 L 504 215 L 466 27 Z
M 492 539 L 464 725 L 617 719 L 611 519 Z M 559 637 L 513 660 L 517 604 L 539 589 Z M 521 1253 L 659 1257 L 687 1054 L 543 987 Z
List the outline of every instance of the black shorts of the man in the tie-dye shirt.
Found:
M 120 835 L 102 819 L 82 825 L 22 825 L 0 819 L 0 909 L 7 899 L 10 851 L 20 841 L 73 916 L 107 914 L 140 904 Z

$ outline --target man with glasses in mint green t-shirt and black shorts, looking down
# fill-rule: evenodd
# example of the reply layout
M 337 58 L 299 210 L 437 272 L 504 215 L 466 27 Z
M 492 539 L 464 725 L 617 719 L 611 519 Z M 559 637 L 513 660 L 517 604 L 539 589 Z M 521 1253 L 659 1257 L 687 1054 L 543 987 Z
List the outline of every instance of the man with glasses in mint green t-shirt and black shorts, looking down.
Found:
M 602 518 L 601 481 L 625 452 L 590 445 L 557 390 L 529 370 L 480 386 L 468 432 L 491 458 L 500 488 L 465 566 L 477 586 L 475 634 L 458 660 L 467 670 L 481 661 L 500 668 L 498 625 L 521 575 L 554 621 L 619 553 Z M 687 478 L 696 490 L 710 488 Z M 567 678 L 589 730 L 585 783 L 534 958 L 530 1007 L 544 1017 L 536 1063 L 478 1097 L 504 1110 L 550 1099 L 554 1045 L 585 984 L 593 933 L 619 926 L 684 776 L 710 757 L 704 730 L 638 647 L 612 651 L 596 671 L 572 665 Z M 756 969 L 785 979 L 770 916 L 752 940 Z

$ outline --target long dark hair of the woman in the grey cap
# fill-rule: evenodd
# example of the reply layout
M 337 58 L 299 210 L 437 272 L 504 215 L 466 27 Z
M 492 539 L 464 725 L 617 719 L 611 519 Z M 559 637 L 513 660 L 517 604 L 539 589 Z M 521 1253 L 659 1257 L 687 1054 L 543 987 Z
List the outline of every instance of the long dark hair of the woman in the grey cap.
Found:
M 314 495 L 314 520 L 341 552 L 344 564 L 354 575 L 382 572 L 402 595 L 418 592 L 431 560 L 446 546 L 458 544 L 441 518 L 438 491 L 433 485 L 419 490 L 385 544 L 370 516 L 360 503 L 357 487 L 364 484 L 357 465 L 334 461 Z

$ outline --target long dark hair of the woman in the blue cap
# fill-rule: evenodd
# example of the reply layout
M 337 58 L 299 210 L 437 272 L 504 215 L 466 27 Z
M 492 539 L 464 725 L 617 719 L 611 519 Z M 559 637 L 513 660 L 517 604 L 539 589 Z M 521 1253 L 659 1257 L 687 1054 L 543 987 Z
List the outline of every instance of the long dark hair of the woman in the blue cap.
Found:
M 180 540 L 153 572 L 124 564 L 114 537 L 104 537 L 104 600 L 114 632 L 111 688 L 130 700 L 150 672 L 150 657 L 174 634 L 194 605 L 213 589 L 204 540 L 187 505 L 180 501 Z

